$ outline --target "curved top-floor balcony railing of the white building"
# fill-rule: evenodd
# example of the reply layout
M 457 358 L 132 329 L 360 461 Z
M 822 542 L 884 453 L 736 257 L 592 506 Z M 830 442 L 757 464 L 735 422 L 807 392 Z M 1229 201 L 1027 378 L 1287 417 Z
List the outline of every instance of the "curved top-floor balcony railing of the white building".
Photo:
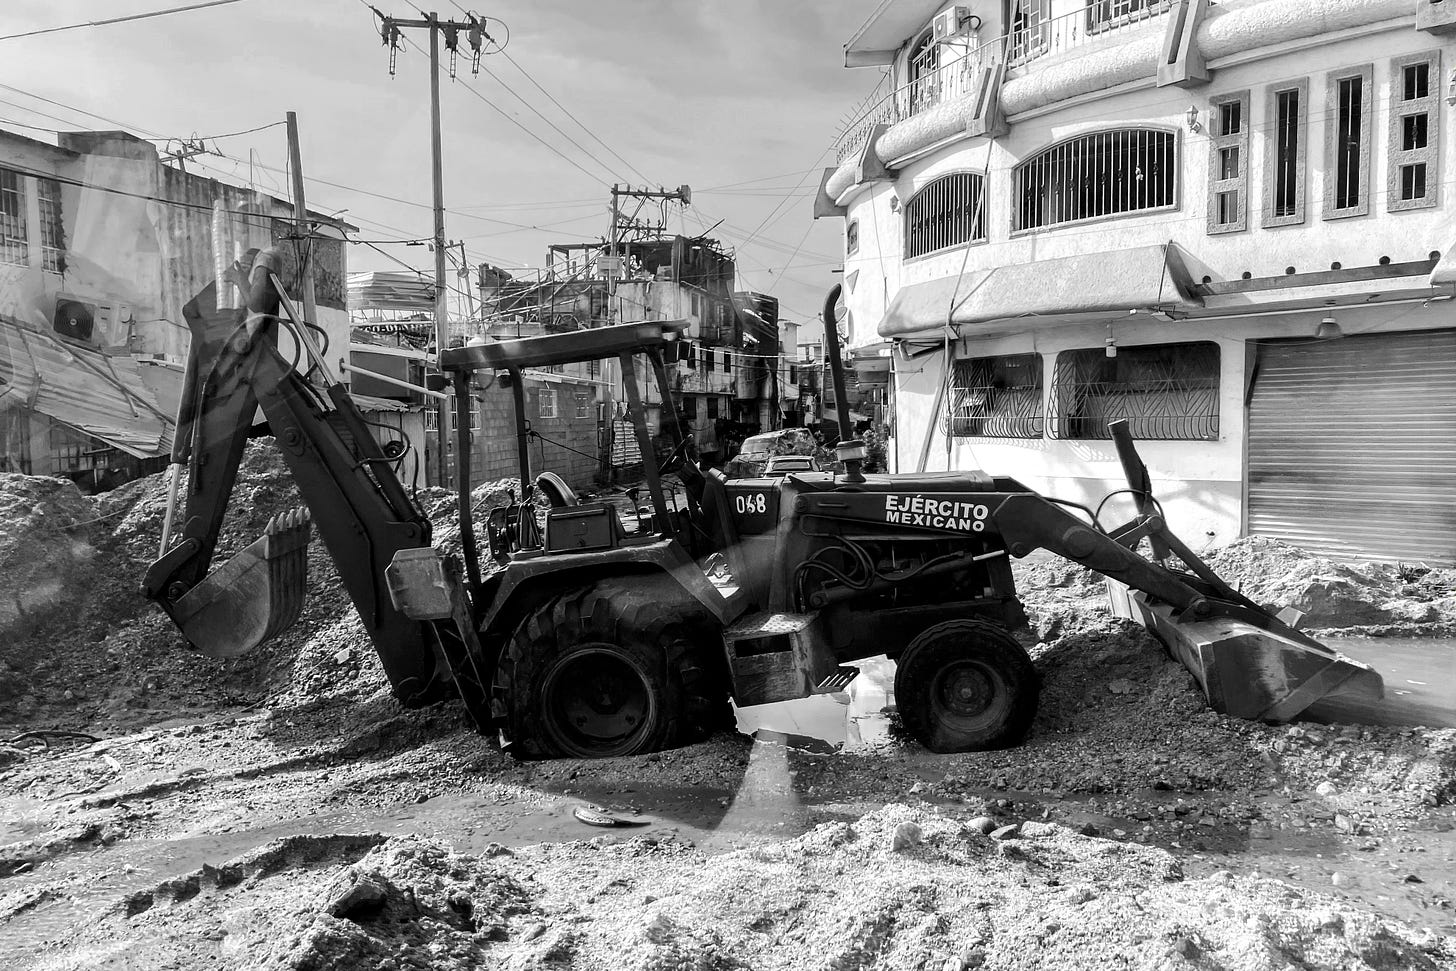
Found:
M 1056 17 L 1050 16 L 1050 0 L 1040 0 L 1032 7 L 1010 33 L 965 52 L 949 47 L 927 51 L 911 64 L 913 80 L 885 95 L 878 95 L 879 89 L 872 92 L 836 141 L 839 162 L 858 154 L 877 125 L 893 125 L 936 105 L 974 95 L 986 67 L 997 63 L 1018 67 L 1038 57 L 1064 54 L 1115 36 L 1166 13 L 1172 0 L 1088 0 L 1085 6 Z M 935 66 L 935 61 L 943 63 Z

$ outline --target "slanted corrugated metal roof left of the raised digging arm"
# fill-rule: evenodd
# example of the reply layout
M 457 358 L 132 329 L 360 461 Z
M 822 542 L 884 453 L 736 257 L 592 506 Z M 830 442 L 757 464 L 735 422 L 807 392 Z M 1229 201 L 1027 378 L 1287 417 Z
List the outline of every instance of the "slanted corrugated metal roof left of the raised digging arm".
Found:
M 48 415 L 138 459 L 172 450 L 166 415 L 130 357 L 108 357 L 0 316 L 0 409 Z

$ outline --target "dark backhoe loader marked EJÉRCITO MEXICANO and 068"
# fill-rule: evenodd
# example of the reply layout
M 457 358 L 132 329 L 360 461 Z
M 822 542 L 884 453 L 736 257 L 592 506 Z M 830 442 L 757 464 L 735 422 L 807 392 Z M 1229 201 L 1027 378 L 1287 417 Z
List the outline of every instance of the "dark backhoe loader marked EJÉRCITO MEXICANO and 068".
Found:
M 1242 597 L 1169 533 L 1125 427 L 1114 435 L 1137 514 L 1109 530 L 986 472 L 865 475 L 834 339 L 837 288 L 826 338 L 840 473 L 728 480 L 700 469 L 671 415 L 664 367 L 681 320 L 441 351 L 457 409 L 462 547 L 444 555 L 395 473 L 399 444 L 376 441 L 329 376 L 277 268 L 269 250 L 237 268 L 240 310 L 218 310 L 215 285 L 186 309 L 192 345 L 173 461 L 188 467 L 188 489 L 179 536 L 165 539 L 143 592 L 202 654 L 250 651 L 297 619 L 317 528 L 396 697 L 421 706 L 456 696 L 518 756 L 678 745 L 729 724 L 729 699 L 836 691 L 856 677 L 856 659 L 882 654 L 897 664 L 900 715 L 917 741 L 981 750 L 1019 742 L 1037 710 L 1037 673 L 1010 633 L 1025 617 L 1009 559 L 1045 549 L 1134 591 L 1128 609 L 1220 712 L 1281 721 L 1334 691 L 1380 694 L 1379 674 Z M 301 348 L 297 365 L 280 352 L 284 332 Z M 581 502 L 550 472 L 531 477 L 523 373 L 591 360 L 620 362 L 649 515 Z M 483 523 L 467 457 L 478 374 L 514 395 L 523 483 Z M 642 380 L 657 383 L 673 435 L 661 460 Z M 259 406 L 307 510 L 277 517 L 208 572 Z M 550 501 L 543 521 L 536 494 Z M 1144 542 L 1150 558 L 1137 552 Z

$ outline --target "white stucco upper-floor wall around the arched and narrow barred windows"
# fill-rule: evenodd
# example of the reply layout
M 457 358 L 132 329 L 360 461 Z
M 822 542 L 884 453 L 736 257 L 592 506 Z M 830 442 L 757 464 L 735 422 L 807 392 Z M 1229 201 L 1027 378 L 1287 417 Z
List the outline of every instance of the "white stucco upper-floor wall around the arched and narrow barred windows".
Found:
M 1446 130 L 1440 138 L 1444 143 L 1439 157 L 1437 173 L 1431 178 L 1440 183 L 1436 208 L 1402 213 L 1386 211 L 1388 173 L 1388 109 L 1390 98 L 1389 61 L 1392 57 L 1428 51 L 1439 47 L 1446 64 L 1452 64 L 1456 51 L 1450 44 L 1418 33 L 1414 29 L 1382 32 L 1373 36 L 1338 39 L 1291 54 L 1273 61 L 1254 61 L 1217 71 L 1213 83 L 1198 92 L 1182 89 L 1146 89 L 1120 93 L 1088 105 L 1064 108 L 1012 125 L 1008 135 L 994 143 L 987 140 L 962 140 L 945 148 L 911 162 L 898 172 L 894 182 L 878 182 L 859 188 L 849 199 L 846 220 L 859 220 L 859 250 L 846 258 L 846 280 L 858 278 L 847 296 L 847 304 L 856 322 L 878 322 L 884 316 L 888 300 L 900 287 L 955 277 L 964 266 L 967 271 L 1024 263 L 1038 259 L 1075 256 L 1089 250 L 1125 249 L 1176 242 L 1187 255 L 1188 271 L 1194 281 L 1203 277 L 1211 280 L 1239 280 L 1245 272 L 1252 277 L 1278 277 L 1290 266 L 1296 272 L 1329 269 L 1332 263 L 1342 266 L 1369 266 L 1388 258 L 1390 262 L 1425 259 L 1431 252 L 1446 252 L 1456 243 L 1447 211 L 1450 186 L 1456 181 L 1456 157 L 1447 147 L 1450 128 L 1456 116 L 1443 105 L 1441 124 Z M 1374 93 L 1372 121 L 1372 172 L 1370 214 L 1356 218 L 1325 220 L 1324 214 L 1324 169 L 1325 169 L 1325 74 L 1344 66 L 1374 64 Z M 1265 179 L 1265 131 L 1268 128 L 1265 95 L 1268 86 L 1286 79 L 1309 79 L 1309 124 L 1306 130 L 1307 176 L 1306 176 L 1306 220 L 1300 226 L 1261 229 L 1262 195 Z M 1249 229 L 1239 233 L 1210 236 L 1207 233 L 1208 194 L 1208 138 L 1207 131 L 1192 132 L 1187 127 L 1185 112 L 1190 105 L 1200 108 L 1200 124 L 1208 121 L 1208 99 L 1223 92 L 1251 92 L 1249 143 Z M 1012 169 L 1051 144 L 1093 131 L 1123 125 L 1152 127 L 1176 132 L 1179 153 L 1178 208 L 1174 211 L 1128 214 L 1089 220 L 1077 224 L 1050 227 L 1029 233 L 1013 234 Z M 951 249 L 911 261 L 901 261 L 903 253 L 903 208 L 891 211 L 891 197 L 907 201 L 916 189 L 949 172 L 983 172 L 990 153 L 990 179 L 986 197 L 987 240 L 970 250 Z M 1376 293 L 1392 287 L 1424 285 L 1424 280 L 1382 282 L 1367 285 Z M 1303 297 L 1348 294 L 1350 285 L 1325 290 L 1305 290 Z M 1287 298 L 1277 291 L 1252 293 L 1239 297 L 1224 297 L 1213 303 L 1223 306 L 1254 306 L 1274 298 Z M 1025 323 L 1015 323 L 1021 328 Z M 872 326 L 858 326 L 853 344 L 877 339 Z

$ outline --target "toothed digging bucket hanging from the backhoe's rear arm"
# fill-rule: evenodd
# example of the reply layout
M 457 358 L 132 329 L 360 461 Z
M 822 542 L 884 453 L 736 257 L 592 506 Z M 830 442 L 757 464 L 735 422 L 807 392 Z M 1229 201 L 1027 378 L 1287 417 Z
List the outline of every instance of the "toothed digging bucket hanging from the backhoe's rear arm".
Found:
M 234 658 L 298 619 L 309 576 L 310 518 L 281 512 L 264 534 L 173 604 L 188 642 L 210 658 Z

